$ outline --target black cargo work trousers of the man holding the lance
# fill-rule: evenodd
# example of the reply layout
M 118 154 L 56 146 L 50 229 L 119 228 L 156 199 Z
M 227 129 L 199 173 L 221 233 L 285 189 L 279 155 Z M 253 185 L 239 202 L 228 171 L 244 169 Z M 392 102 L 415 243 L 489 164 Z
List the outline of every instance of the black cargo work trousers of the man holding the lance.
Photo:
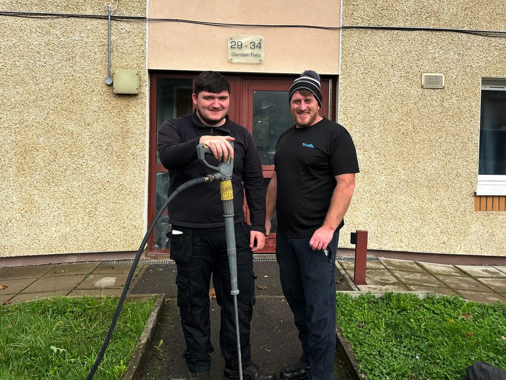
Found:
M 175 233 L 176 232 L 176 233 Z M 181 233 L 179 233 L 181 232 Z M 237 249 L 237 308 L 243 368 L 252 364 L 249 345 L 250 322 L 255 305 L 253 254 L 249 248 L 250 227 L 235 224 Z M 237 370 L 237 339 L 234 300 L 230 294 L 227 239 L 223 229 L 172 227 L 171 258 L 176 261 L 178 307 L 186 341 L 183 357 L 190 372 L 209 371 L 214 351 L 210 341 L 209 283 L 213 275 L 216 300 L 221 307 L 220 348 L 225 367 Z

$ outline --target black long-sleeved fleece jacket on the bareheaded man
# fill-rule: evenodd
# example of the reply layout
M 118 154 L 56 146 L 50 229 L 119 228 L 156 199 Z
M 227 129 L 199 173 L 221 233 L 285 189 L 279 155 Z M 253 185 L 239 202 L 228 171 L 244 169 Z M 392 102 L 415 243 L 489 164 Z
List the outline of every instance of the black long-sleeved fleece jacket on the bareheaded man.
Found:
M 178 119 L 168 119 L 158 131 L 157 150 L 162 165 L 169 170 L 168 194 L 190 179 L 213 173 L 197 160 L 200 136 L 232 136 L 234 140 L 234 222 L 244 220 L 244 194 L 249 207 L 251 230 L 265 232 L 265 188 L 262 165 L 251 134 L 226 116 L 225 124 L 208 127 L 200 122 L 196 111 Z M 218 165 L 214 157 L 207 162 Z M 183 227 L 210 228 L 225 225 L 218 181 L 190 187 L 168 206 L 171 224 Z

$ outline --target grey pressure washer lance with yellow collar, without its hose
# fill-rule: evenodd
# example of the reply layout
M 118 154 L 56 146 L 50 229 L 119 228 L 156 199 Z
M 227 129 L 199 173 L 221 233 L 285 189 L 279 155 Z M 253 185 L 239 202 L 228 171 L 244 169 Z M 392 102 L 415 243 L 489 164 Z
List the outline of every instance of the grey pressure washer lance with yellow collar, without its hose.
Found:
M 233 142 L 230 142 L 232 146 Z M 207 145 L 197 145 L 197 157 L 202 160 L 205 166 L 217 170 L 221 174 L 220 178 L 220 195 L 223 202 L 223 216 L 225 217 L 225 235 L 227 237 L 227 256 L 230 268 L 230 285 L 234 298 L 234 314 L 235 314 L 235 336 L 237 339 L 237 360 L 239 363 L 239 380 L 242 380 L 242 358 L 241 358 L 241 340 L 239 335 L 239 315 L 237 311 L 237 250 L 235 247 L 235 230 L 234 230 L 234 192 L 232 189 L 232 171 L 234 168 L 234 159 L 230 156 L 227 162 L 220 162 L 218 167 L 210 165 L 205 161 L 205 154 L 212 154 L 211 149 Z M 221 166 L 220 166 L 221 165 Z

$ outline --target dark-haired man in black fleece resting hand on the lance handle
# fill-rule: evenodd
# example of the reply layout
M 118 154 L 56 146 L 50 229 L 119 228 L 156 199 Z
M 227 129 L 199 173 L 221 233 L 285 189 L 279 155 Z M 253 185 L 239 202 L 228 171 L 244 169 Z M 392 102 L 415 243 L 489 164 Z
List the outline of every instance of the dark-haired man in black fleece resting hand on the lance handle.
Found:
M 170 170 L 169 195 L 190 179 L 213 171 L 197 160 L 196 146 L 206 144 L 217 166 L 219 160 L 233 157 L 235 242 L 239 294 L 239 332 L 243 378 L 274 380 L 275 374 L 262 374 L 251 361 L 249 329 L 255 304 L 253 255 L 265 242 L 265 190 L 257 147 L 249 132 L 232 122 L 228 115 L 230 83 L 220 73 L 198 75 L 193 88 L 196 109 L 190 115 L 166 120 L 158 132 L 158 155 Z M 234 142 L 234 147 L 230 144 Z M 244 221 L 243 198 L 250 211 L 251 226 Z M 221 307 L 220 348 L 225 359 L 224 378 L 238 379 L 238 355 L 234 302 L 230 294 L 225 219 L 220 183 L 194 186 L 178 195 L 168 206 L 172 224 L 171 258 L 176 261 L 178 306 L 186 341 L 184 358 L 190 379 L 209 379 L 210 342 L 209 282 L 213 274 L 216 299 Z

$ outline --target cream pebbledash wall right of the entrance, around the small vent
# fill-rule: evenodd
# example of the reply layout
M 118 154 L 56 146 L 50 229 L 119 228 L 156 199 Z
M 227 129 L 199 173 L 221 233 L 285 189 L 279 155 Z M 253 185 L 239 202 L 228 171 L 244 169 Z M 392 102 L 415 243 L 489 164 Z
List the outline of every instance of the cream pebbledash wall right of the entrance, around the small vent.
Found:
M 342 24 L 506 30 L 506 8 L 344 1 Z M 339 122 L 361 169 L 348 229 L 368 230 L 369 248 L 506 256 L 506 212 L 474 210 L 481 79 L 506 78 L 505 52 L 504 37 L 342 31 Z M 444 88 L 421 88 L 427 72 Z

